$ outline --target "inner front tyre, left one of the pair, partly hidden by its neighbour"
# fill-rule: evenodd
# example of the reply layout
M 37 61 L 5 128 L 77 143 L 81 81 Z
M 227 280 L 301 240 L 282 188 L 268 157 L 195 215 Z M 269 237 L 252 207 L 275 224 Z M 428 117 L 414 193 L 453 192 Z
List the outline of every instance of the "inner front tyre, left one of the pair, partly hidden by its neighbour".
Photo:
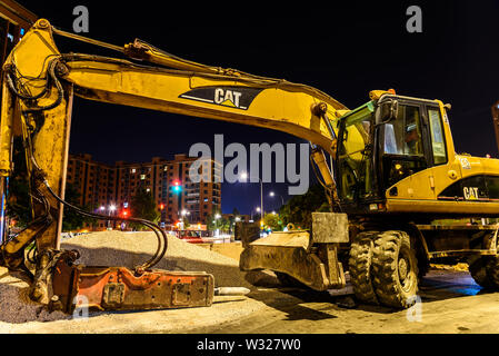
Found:
M 372 250 L 373 240 L 378 231 L 363 231 L 353 238 L 350 247 L 348 270 L 353 293 L 359 301 L 378 305 L 375 287 L 372 286 Z

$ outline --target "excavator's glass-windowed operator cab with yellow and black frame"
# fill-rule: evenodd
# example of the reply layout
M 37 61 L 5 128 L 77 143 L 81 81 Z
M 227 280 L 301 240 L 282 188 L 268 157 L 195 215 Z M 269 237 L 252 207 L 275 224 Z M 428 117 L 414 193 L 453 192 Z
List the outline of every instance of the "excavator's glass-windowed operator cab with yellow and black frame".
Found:
M 399 181 L 446 165 L 443 117 L 438 101 L 390 93 L 340 118 L 335 176 L 342 210 L 386 211 Z

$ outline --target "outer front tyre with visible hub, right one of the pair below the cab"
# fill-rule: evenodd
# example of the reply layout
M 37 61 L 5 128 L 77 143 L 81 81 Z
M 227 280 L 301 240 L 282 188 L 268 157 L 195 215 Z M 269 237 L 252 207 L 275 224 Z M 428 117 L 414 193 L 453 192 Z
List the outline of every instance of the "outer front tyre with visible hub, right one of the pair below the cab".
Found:
M 375 239 L 372 285 L 380 304 L 405 309 L 416 303 L 418 260 L 405 231 L 385 231 Z

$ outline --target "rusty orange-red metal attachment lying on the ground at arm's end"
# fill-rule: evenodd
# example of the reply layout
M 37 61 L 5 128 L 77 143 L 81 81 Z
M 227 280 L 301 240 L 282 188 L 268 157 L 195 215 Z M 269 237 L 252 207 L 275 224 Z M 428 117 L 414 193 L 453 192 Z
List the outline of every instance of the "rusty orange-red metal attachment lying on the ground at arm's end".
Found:
M 214 279 L 203 271 L 147 270 L 126 267 L 68 266 L 60 260 L 52 278 L 56 299 L 66 313 L 77 307 L 93 310 L 144 310 L 211 306 Z

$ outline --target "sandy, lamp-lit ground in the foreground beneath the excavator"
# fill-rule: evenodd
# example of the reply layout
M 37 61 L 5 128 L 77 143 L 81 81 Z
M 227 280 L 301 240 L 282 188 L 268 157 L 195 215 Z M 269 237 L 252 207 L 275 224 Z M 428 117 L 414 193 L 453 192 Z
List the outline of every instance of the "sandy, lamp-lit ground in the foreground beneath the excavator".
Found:
M 266 284 L 270 281 L 267 279 Z M 247 296 L 214 297 L 207 308 L 103 313 L 84 319 L 0 323 L 0 333 L 166 334 L 497 334 L 499 293 L 485 294 L 468 273 L 432 270 L 418 309 L 342 306 L 340 293 L 259 287 Z

